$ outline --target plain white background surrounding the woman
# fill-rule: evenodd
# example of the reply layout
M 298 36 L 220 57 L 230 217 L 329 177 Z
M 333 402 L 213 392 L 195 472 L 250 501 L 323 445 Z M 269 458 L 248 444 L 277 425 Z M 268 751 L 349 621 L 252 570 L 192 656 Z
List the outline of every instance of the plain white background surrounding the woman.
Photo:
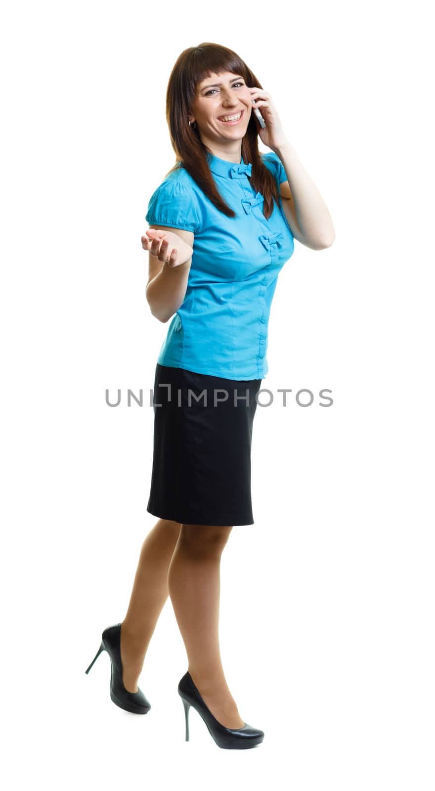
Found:
M 433 44 L 423 2 L 10 3 L 2 13 L 2 715 L 9 789 L 433 791 Z M 177 684 L 170 600 L 135 717 L 85 668 L 127 611 L 168 330 L 146 303 L 180 52 L 274 99 L 336 240 L 270 316 L 255 524 L 221 560 L 221 655 L 266 734 L 221 750 Z M 260 150 L 267 150 L 260 142 Z M 106 388 L 121 405 L 109 408 Z M 127 389 L 144 405 L 127 407 Z M 283 407 L 278 388 L 293 391 Z M 311 407 L 297 405 L 301 388 Z M 319 406 L 331 388 L 334 404 Z M 267 402 L 267 395 L 264 397 Z

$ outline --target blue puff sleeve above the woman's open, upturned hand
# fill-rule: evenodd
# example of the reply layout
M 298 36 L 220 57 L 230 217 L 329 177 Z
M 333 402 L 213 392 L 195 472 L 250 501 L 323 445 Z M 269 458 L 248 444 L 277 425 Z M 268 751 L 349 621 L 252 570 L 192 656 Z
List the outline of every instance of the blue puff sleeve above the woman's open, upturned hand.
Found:
M 195 233 L 200 215 L 195 192 L 180 180 L 165 179 L 149 199 L 146 221 Z

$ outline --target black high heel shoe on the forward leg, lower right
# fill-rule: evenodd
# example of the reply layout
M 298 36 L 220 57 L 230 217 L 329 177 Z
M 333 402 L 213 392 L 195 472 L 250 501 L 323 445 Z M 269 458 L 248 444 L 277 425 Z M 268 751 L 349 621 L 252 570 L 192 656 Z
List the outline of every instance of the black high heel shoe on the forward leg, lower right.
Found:
M 244 750 L 246 747 L 255 747 L 256 744 L 264 739 L 264 731 L 253 728 L 245 722 L 243 728 L 225 728 L 213 716 L 208 706 L 202 700 L 201 695 L 187 671 L 186 675 L 180 680 L 178 694 L 183 701 L 184 713 L 186 715 L 186 741 L 189 741 L 189 709 L 191 706 L 201 715 L 203 721 L 218 747 L 227 750 Z

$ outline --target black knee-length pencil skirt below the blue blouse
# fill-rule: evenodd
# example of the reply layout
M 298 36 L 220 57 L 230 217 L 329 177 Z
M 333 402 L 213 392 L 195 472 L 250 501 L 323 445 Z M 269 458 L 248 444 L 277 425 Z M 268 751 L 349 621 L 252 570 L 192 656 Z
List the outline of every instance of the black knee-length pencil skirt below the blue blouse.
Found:
M 182 524 L 254 524 L 252 423 L 261 382 L 157 363 L 149 513 Z

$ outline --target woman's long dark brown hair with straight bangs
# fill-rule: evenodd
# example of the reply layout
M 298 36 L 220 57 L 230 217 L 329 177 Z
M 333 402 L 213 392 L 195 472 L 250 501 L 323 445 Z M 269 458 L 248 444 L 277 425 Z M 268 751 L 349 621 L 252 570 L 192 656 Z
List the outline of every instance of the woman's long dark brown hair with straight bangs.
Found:
M 254 85 L 263 87 L 244 60 L 236 55 L 236 52 L 220 44 L 202 42 L 198 47 L 188 47 L 183 50 L 177 58 L 166 91 L 166 121 L 177 161 L 166 176 L 181 167 L 185 168 L 214 206 L 227 217 L 236 217 L 236 212 L 228 206 L 219 193 L 210 172 L 206 155 L 210 149 L 201 142 L 198 127 L 192 129 L 188 123 L 197 85 L 206 77 L 210 77 L 211 73 L 222 74 L 225 71 L 240 74 L 248 87 Z M 279 193 L 276 180 L 269 168 L 264 165 L 259 153 L 256 123 L 255 115 L 252 113 L 242 140 L 241 153 L 244 162 L 252 164 L 250 182 L 254 190 L 263 195 L 263 214 L 268 219 L 274 208 L 273 201 L 278 204 Z M 281 197 L 286 199 L 284 195 Z

